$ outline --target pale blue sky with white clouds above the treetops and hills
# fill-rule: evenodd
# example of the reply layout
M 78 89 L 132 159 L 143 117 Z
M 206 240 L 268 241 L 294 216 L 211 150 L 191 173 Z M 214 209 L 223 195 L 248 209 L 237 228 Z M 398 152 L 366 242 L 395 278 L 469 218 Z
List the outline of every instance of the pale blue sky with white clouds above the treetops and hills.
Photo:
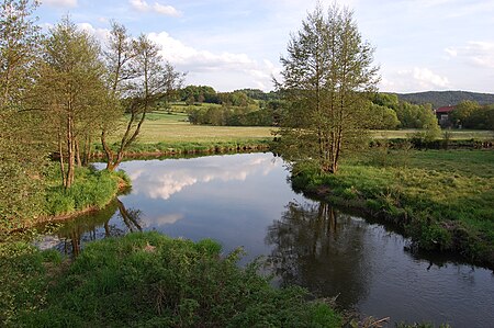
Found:
M 327 8 L 334 0 L 319 0 Z M 290 35 L 316 0 L 42 0 L 53 26 L 65 15 L 104 41 L 110 22 L 144 33 L 186 84 L 273 90 Z M 382 92 L 494 93 L 494 0 L 339 0 L 374 48 Z

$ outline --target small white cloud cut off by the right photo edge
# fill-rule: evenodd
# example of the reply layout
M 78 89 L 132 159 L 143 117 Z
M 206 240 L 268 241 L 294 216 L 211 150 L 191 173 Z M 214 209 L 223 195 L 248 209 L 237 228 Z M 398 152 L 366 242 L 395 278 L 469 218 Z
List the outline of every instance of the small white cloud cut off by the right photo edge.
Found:
M 458 58 L 481 68 L 494 68 L 494 43 L 471 41 L 465 46 L 449 47 L 445 52 L 451 58 Z

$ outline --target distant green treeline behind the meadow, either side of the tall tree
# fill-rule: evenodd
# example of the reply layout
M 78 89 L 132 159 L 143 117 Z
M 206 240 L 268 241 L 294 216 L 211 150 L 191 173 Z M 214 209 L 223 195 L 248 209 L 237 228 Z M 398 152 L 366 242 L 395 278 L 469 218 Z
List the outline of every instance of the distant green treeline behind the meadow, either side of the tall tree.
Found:
M 190 106 L 190 123 L 201 125 L 278 126 L 290 106 L 279 92 L 258 89 L 216 92 L 212 87 L 189 86 L 179 94 Z M 373 129 L 425 128 L 437 122 L 430 104 L 411 104 L 396 94 L 377 93 L 368 105 L 372 108 L 369 127 Z

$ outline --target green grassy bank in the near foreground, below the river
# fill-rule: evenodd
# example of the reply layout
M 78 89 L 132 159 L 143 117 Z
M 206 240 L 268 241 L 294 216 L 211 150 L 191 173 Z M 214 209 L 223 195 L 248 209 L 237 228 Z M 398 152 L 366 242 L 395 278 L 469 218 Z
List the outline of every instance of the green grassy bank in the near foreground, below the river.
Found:
M 341 327 L 326 303 L 273 289 L 242 251 L 157 233 L 92 242 L 72 263 L 23 244 L 0 247 L 8 327 Z

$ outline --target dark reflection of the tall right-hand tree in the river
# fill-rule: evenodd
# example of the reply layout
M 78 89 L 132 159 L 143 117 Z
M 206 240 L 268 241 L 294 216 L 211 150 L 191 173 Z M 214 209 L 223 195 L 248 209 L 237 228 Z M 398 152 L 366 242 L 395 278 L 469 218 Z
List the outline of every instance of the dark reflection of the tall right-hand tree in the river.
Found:
M 363 222 L 326 203 L 290 203 L 268 227 L 269 261 L 283 285 L 297 284 L 350 307 L 368 293 Z M 341 283 L 345 282 L 345 283 Z

